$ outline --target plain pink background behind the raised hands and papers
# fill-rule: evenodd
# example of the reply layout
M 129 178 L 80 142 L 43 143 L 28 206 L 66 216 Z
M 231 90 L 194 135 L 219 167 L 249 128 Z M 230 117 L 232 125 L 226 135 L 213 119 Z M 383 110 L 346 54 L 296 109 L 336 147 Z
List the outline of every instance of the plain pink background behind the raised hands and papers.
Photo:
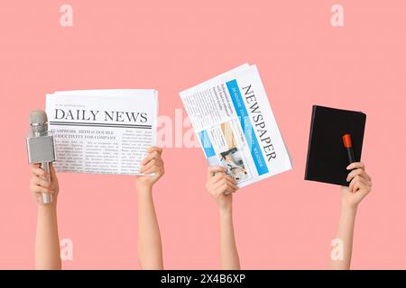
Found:
M 73 27 L 60 26 L 60 5 Z M 345 27 L 330 25 L 342 4 Z M 398 1 L 2 1 L 0 268 L 33 266 L 36 205 L 24 146 L 45 94 L 155 88 L 174 117 L 178 93 L 257 64 L 294 160 L 288 173 L 235 195 L 244 268 L 325 268 L 340 211 L 337 186 L 305 182 L 311 105 L 367 114 L 363 160 L 374 189 L 356 219 L 353 268 L 406 268 L 406 4 Z M 184 113 L 185 114 L 185 113 Z M 166 148 L 154 189 L 167 268 L 218 268 L 217 206 L 199 148 Z M 60 175 L 60 238 L 72 268 L 139 268 L 134 179 Z

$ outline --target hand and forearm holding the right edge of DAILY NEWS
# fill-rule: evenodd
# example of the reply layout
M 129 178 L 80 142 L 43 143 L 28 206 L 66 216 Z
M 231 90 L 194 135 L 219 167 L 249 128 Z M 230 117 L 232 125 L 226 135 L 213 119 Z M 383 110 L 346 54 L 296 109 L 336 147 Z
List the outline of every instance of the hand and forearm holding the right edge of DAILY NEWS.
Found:
M 135 187 L 138 198 L 138 258 L 146 270 L 163 269 L 161 232 L 152 199 L 152 185 L 164 174 L 161 158 L 162 149 L 147 149 L 140 172 L 147 175 L 135 176 Z M 152 174 L 153 175 L 148 175 Z

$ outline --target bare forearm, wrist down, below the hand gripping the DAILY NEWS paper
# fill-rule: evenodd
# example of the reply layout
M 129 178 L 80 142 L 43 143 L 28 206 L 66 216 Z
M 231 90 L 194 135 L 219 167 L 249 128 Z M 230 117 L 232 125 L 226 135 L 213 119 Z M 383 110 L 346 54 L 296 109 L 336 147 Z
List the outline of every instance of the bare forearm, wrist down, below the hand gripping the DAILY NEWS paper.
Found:
M 161 233 L 151 188 L 138 189 L 138 257 L 143 269 L 163 269 Z

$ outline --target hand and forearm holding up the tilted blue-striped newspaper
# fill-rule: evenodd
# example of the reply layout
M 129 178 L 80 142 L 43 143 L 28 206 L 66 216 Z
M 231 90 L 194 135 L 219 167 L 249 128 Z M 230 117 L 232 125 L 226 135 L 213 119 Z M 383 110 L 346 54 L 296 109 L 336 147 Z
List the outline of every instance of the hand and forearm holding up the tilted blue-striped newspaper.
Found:
M 240 259 L 235 245 L 233 224 L 233 193 L 238 190 L 235 179 L 226 175 L 222 166 L 208 167 L 206 189 L 216 200 L 220 211 L 220 257 L 221 267 L 226 270 L 240 269 Z M 227 194 L 226 194 L 227 193 Z

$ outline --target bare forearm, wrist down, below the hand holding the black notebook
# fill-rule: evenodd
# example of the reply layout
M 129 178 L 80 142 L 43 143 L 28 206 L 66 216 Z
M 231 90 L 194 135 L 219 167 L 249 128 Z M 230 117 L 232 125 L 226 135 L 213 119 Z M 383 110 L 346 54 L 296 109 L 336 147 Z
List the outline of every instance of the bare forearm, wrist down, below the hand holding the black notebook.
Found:
M 330 269 L 347 270 L 351 266 L 354 227 L 355 227 L 355 215 L 356 215 L 356 209 L 342 207 L 336 238 L 338 238 L 342 241 L 343 259 L 334 260 L 330 257 L 330 261 L 329 261 Z

